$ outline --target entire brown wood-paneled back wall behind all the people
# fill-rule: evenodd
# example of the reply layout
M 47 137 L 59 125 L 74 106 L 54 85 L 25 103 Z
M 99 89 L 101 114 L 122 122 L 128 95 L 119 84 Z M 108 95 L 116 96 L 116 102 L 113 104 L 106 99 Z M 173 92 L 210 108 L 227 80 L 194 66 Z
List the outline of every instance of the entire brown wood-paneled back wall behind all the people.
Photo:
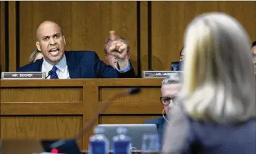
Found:
M 16 63 L 19 63 L 19 66 L 28 63 L 28 57 L 36 47 L 35 31 L 39 23 L 45 20 L 53 20 L 62 27 L 67 42 L 66 50 L 94 50 L 105 62 L 104 42 L 109 37 L 109 30 L 116 30 L 118 35 L 129 41 L 131 63 L 136 73 L 137 62 L 140 63 L 140 71 L 148 68 L 170 70 L 170 63 L 179 60 L 185 28 L 194 17 L 204 12 L 218 11 L 232 15 L 246 28 L 250 39 L 252 41 L 256 39 L 256 1 L 10 1 L 8 3 L 8 40 L 10 41 L 8 68 L 12 71 L 16 69 Z M 3 3 L 1 8 L 4 8 Z M 1 9 L 1 12 L 4 12 L 4 9 Z M 3 16 L 1 13 L 1 21 Z M 139 24 L 137 24 L 138 19 Z M 139 32 L 137 28 L 140 28 Z M 4 30 L 3 24 L 1 30 Z M 1 44 L 3 39 L 4 34 L 1 33 Z M 17 44 L 19 46 L 16 46 Z M 4 50 L 5 47 L 1 46 L 3 67 Z M 152 53 L 149 54 L 149 51 Z M 137 61 L 137 54 L 140 56 L 140 61 Z

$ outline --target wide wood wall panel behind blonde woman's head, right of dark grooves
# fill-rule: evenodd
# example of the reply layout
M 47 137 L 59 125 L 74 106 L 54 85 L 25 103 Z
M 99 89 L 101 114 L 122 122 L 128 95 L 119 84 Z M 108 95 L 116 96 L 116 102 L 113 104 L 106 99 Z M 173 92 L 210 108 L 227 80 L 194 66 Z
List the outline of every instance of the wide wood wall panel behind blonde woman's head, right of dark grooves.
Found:
M 204 12 L 226 12 L 256 39 L 256 1 L 152 1 L 152 68 L 170 70 L 179 61 L 186 26 Z

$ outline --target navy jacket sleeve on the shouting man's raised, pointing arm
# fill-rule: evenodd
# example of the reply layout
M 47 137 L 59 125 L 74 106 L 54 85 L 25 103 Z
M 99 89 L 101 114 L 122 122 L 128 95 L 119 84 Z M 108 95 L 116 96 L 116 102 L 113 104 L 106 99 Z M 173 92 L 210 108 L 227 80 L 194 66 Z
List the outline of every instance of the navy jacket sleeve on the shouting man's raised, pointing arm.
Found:
M 111 66 L 104 64 L 100 60 L 98 55 L 93 52 L 93 61 L 94 61 L 94 70 L 96 71 L 99 78 L 134 78 L 136 74 L 134 73 L 134 68 L 131 66 L 131 70 L 125 73 L 118 73 L 118 70 L 115 70 Z

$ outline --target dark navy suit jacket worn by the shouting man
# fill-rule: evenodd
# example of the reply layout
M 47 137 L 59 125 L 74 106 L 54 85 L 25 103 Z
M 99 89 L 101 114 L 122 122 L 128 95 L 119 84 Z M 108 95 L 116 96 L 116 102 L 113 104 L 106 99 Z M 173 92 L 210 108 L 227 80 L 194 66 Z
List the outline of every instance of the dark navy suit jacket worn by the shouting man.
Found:
M 66 51 L 66 64 L 71 79 L 76 78 L 133 78 L 136 77 L 134 68 L 126 73 L 118 73 L 111 66 L 104 64 L 95 52 L 91 51 Z M 39 59 L 33 64 L 27 64 L 17 72 L 41 72 L 44 59 Z M 131 65 L 131 64 L 130 64 Z

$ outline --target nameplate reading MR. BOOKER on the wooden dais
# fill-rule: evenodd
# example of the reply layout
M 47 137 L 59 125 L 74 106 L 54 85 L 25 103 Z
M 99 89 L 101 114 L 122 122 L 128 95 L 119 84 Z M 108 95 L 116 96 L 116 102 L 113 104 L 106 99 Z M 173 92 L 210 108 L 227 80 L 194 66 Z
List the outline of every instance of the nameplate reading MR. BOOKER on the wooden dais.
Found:
M 45 79 L 45 72 L 3 72 L 1 79 Z

